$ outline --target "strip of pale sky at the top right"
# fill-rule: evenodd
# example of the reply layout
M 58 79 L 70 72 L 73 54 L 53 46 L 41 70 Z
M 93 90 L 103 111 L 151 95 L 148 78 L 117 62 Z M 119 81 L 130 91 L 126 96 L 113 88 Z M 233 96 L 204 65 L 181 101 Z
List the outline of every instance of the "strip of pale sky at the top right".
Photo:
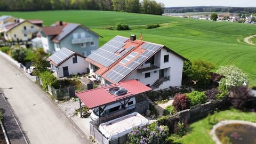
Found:
M 177 6 L 236 6 L 236 7 L 256 7 L 256 0 L 156 0 L 165 7 Z

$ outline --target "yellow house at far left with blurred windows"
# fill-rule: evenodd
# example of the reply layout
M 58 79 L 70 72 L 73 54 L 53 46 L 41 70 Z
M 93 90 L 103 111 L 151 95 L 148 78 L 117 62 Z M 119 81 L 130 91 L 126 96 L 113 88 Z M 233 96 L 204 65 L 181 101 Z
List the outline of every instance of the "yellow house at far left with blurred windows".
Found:
M 4 27 L 4 38 L 6 41 L 30 41 L 36 37 L 42 23 L 41 20 L 15 20 Z

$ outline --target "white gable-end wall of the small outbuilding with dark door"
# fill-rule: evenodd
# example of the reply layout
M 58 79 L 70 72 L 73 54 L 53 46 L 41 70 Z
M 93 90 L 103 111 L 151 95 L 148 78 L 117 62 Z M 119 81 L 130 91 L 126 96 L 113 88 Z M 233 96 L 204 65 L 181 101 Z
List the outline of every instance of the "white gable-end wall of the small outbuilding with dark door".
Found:
M 79 57 L 77 55 L 77 63 L 73 63 L 73 58 L 75 58 L 75 56 L 61 63 L 61 65 L 58 67 L 59 77 L 63 77 L 63 67 L 68 67 L 69 75 L 76 75 L 77 73 L 87 73 L 87 68 L 89 68 L 89 62 L 87 62 L 84 58 Z

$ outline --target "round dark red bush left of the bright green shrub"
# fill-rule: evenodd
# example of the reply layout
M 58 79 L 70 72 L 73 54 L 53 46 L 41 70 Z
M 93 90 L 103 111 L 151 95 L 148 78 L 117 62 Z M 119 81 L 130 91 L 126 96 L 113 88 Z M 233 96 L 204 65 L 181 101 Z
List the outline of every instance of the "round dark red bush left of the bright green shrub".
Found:
M 186 94 L 176 94 L 173 101 L 173 106 L 175 110 L 181 111 L 189 108 L 189 99 Z

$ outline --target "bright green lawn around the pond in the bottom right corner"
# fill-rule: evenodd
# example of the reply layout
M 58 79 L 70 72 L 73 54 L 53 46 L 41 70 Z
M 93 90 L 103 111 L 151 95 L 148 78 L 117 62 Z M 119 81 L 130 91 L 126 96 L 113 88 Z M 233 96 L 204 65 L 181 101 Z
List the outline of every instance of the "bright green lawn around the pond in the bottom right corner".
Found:
M 224 119 L 237 119 L 237 120 L 243 120 L 243 121 L 250 121 L 250 122 L 256 122 L 256 113 L 243 113 L 241 111 L 231 109 L 231 110 L 225 110 L 220 111 L 215 115 L 215 119 L 217 121 L 221 121 Z M 214 117 L 212 115 L 212 119 Z M 208 123 L 208 119 L 204 118 L 201 121 L 197 121 L 193 124 L 191 124 L 189 127 L 191 129 L 190 132 L 188 132 L 185 136 L 182 138 L 173 138 L 169 137 L 171 139 L 170 141 L 173 141 L 174 143 L 186 143 L 186 144 L 194 144 L 194 143 L 207 143 L 207 144 L 214 144 L 214 141 L 211 138 L 210 131 L 212 129 L 211 124 Z

